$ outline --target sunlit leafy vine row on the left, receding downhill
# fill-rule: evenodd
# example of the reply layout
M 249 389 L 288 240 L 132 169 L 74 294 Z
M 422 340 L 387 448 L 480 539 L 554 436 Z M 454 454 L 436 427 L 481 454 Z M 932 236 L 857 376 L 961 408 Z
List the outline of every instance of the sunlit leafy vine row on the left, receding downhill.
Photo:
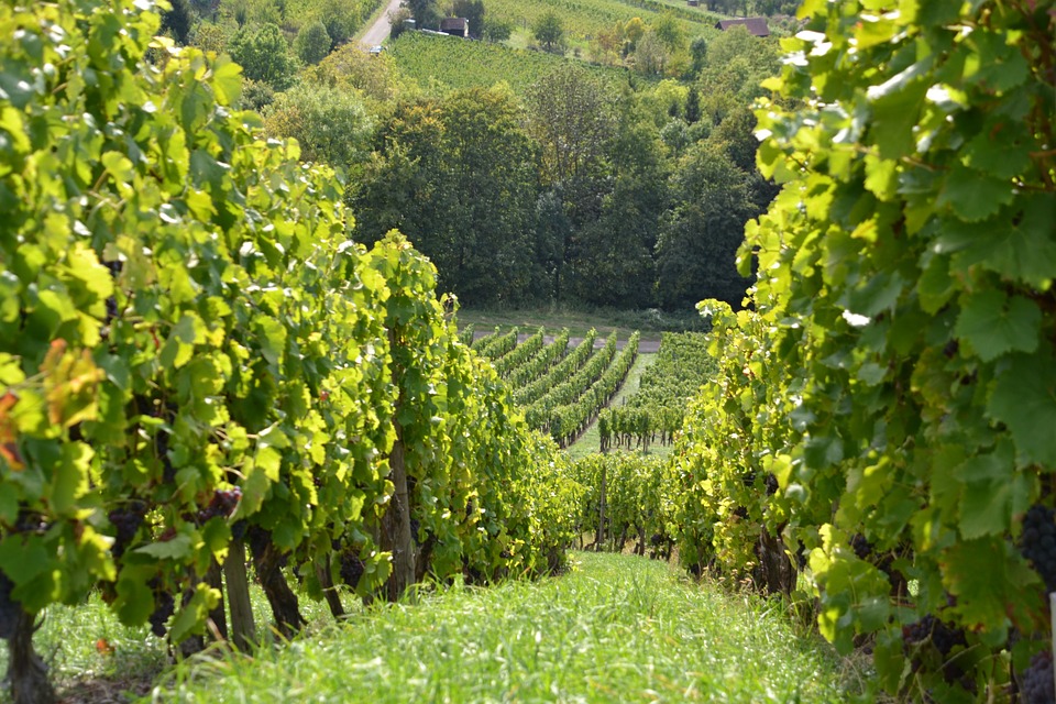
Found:
M 124 0 L 0 6 L 19 37 L 0 46 L 0 573 L 19 628 L 98 588 L 183 641 L 243 530 L 286 632 L 302 617 L 283 562 L 312 598 L 345 557 L 365 597 L 560 568 L 576 488 L 458 342 L 436 270 L 396 233 L 351 242 L 332 173 L 234 108 L 237 65 L 158 24 Z M 400 573 L 409 554 L 421 573 Z

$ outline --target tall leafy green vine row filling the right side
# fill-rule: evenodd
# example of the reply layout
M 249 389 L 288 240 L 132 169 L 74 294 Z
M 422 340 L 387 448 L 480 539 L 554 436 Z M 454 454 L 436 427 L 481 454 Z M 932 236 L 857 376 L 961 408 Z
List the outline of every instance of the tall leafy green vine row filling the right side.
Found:
M 873 4 L 805 3 L 766 86 L 759 162 L 784 186 L 739 254 L 758 314 L 688 420 L 684 472 L 716 473 L 689 484 L 716 509 L 738 473 L 773 474 L 730 560 L 783 528 L 840 651 L 870 637 L 889 692 L 982 701 L 1052 637 L 1048 568 L 1018 542 L 1056 469 L 1056 15 Z

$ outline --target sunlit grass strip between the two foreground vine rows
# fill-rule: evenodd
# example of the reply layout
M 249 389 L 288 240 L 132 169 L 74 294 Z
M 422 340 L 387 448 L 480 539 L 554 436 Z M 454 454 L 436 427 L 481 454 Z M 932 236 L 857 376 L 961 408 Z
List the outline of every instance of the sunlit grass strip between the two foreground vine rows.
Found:
M 843 702 L 784 612 L 666 563 L 575 553 L 541 582 L 378 606 L 253 658 L 182 666 L 155 702 Z

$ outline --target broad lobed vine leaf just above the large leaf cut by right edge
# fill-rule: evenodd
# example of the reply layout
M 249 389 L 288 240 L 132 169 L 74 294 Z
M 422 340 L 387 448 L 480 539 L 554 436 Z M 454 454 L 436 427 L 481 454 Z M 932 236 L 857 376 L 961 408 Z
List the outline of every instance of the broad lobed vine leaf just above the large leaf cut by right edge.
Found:
M 954 333 L 990 362 L 1012 351 L 1036 350 L 1041 326 L 1042 311 L 1033 300 L 983 290 L 966 297 Z

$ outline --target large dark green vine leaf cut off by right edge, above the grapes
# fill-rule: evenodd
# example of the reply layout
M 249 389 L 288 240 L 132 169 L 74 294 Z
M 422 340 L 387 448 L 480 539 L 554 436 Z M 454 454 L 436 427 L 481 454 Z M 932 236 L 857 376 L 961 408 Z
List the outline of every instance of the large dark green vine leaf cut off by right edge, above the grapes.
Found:
M 1014 353 L 993 383 L 987 415 L 1003 422 L 1020 466 L 1056 466 L 1056 359 Z

